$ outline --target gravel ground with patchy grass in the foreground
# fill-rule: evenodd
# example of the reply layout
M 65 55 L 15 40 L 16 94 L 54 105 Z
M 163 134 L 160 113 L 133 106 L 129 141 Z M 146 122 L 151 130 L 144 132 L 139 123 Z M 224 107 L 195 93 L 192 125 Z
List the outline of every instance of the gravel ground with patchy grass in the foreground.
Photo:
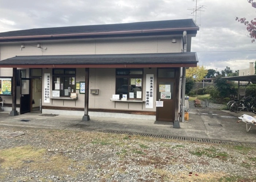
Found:
M 256 181 L 256 150 L 0 125 L 0 181 Z

